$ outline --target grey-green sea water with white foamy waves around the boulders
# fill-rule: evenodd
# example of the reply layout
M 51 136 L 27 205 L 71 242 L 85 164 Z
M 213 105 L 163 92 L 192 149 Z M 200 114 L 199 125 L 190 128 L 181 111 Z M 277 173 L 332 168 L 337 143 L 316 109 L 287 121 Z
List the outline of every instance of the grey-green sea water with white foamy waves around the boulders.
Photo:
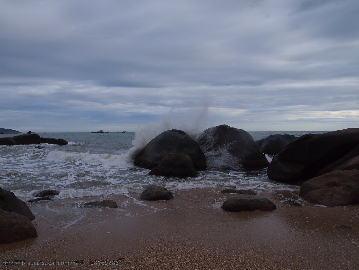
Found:
M 186 130 L 192 138 L 201 132 Z M 298 186 L 268 179 L 266 169 L 251 172 L 228 171 L 209 167 L 197 177 L 150 176 L 148 169 L 134 166 L 133 158 L 160 132 L 179 126 L 150 124 L 137 132 L 40 133 L 41 137 L 64 139 L 68 145 L 0 145 L 0 187 L 13 191 L 19 199 L 33 199 L 35 191 L 55 189 L 55 199 L 141 192 L 147 185 L 169 190 L 203 187 L 252 190 L 298 190 Z M 317 131 L 249 132 L 254 140 L 271 134 L 301 136 Z M 14 134 L 0 134 L 11 137 Z M 205 153 L 206 154 L 206 153 Z M 269 158 L 270 160 L 270 158 Z M 227 162 L 225 159 L 220 162 Z M 215 164 L 208 164 L 216 166 Z M 220 164 L 217 164 L 220 165 Z

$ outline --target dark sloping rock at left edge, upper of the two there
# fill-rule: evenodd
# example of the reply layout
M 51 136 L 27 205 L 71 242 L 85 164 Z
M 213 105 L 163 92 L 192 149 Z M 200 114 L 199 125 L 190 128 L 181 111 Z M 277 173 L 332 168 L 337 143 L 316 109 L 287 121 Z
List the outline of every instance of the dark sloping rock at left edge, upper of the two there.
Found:
M 32 214 L 26 203 L 18 199 L 13 192 L 5 190 L 0 187 L 0 209 L 9 212 L 15 212 L 23 215 L 30 220 L 34 220 L 35 217 Z

